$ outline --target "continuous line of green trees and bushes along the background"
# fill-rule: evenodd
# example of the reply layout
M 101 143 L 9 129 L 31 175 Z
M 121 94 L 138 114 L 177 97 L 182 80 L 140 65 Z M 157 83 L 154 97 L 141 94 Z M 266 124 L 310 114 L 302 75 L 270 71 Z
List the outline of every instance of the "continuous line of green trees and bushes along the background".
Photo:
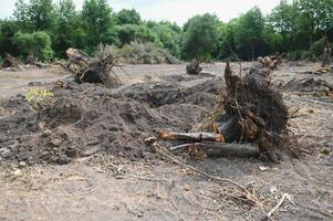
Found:
M 333 40 L 333 0 L 281 0 L 263 15 L 254 7 L 229 22 L 216 14 L 190 18 L 183 27 L 144 21 L 133 10 L 113 11 L 106 0 L 18 0 L 12 18 L 0 20 L 0 54 L 64 59 L 67 48 L 93 54 L 100 44 L 123 48 L 154 43 L 181 60 L 253 60 L 285 52 L 291 60 L 318 59 Z

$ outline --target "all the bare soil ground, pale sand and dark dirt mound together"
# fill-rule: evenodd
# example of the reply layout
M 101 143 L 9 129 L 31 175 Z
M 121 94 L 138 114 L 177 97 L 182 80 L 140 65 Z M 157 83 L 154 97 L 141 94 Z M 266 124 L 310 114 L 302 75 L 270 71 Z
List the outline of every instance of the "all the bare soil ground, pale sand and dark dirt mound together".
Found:
M 272 77 L 284 82 L 308 77 L 294 72 L 315 65 L 284 64 Z M 232 66 L 239 70 L 238 64 Z M 280 164 L 173 156 L 246 186 L 261 208 L 235 198 L 239 196 L 235 186 L 175 165 L 144 144 L 159 127 L 186 131 L 212 112 L 223 85 L 223 64 L 208 64 L 205 70 L 217 76 L 186 76 L 185 65 L 129 65 L 126 72 L 132 77 L 118 72 L 125 82 L 119 90 L 70 83 L 54 90 L 56 101 L 65 101 L 43 113 L 13 95 L 24 94 L 38 76 L 42 84 L 31 85 L 52 88 L 52 82 L 67 81 L 64 73 L 0 72 L 0 220 L 264 220 L 284 193 L 291 199 L 272 220 L 332 220 L 332 97 L 283 94 L 290 109 L 300 108 L 290 129 L 303 154 L 285 155 Z M 332 73 L 313 77 L 333 83 Z M 79 120 L 77 115 L 83 117 Z M 59 139 L 62 143 L 54 147 Z M 79 147 L 69 148 L 74 144 Z

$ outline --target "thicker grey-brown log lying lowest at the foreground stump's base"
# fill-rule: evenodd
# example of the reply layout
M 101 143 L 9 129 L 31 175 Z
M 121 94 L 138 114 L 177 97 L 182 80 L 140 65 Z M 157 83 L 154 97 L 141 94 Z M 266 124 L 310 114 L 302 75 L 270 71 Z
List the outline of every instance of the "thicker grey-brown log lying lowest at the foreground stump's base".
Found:
M 253 157 L 259 154 L 259 146 L 254 143 L 248 144 L 227 144 L 227 143 L 195 143 L 171 147 L 171 150 L 178 150 L 186 147 L 195 147 L 202 150 L 208 157 Z

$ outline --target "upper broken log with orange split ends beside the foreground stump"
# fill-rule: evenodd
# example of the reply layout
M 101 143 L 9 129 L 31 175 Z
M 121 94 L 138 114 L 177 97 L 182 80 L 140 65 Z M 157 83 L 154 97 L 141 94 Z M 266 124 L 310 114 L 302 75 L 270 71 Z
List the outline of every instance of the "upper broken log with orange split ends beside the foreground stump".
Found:
M 165 140 L 186 140 L 186 141 L 218 141 L 223 143 L 225 136 L 214 133 L 174 133 L 160 130 L 158 137 Z

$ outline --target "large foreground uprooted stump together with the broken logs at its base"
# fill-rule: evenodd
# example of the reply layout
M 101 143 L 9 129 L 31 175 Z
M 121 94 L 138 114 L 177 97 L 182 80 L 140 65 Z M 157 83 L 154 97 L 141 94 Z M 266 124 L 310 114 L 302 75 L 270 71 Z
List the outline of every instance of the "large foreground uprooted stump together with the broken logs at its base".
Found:
M 235 148 L 233 155 L 243 156 L 260 151 L 271 151 L 281 145 L 282 133 L 287 127 L 288 109 L 279 91 L 258 69 L 251 69 L 243 77 L 233 75 L 229 63 L 225 71 L 226 90 L 221 93 L 221 103 L 211 117 L 196 130 L 212 130 L 215 134 L 175 134 L 159 133 L 166 140 L 183 143 L 206 143 L 196 147 L 214 147 L 216 152 L 226 155 L 226 148 Z M 221 138 L 222 136 L 222 138 Z M 209 144 L 207 144 L 209 143 Z M 230 143 L 230 145 L 216 144 Z M 257 144 L 244 146 L 244 144 Z M 183 145 L 180 147 L 186 147 Z M 219 150 L 217 150 L 219 149 Z

